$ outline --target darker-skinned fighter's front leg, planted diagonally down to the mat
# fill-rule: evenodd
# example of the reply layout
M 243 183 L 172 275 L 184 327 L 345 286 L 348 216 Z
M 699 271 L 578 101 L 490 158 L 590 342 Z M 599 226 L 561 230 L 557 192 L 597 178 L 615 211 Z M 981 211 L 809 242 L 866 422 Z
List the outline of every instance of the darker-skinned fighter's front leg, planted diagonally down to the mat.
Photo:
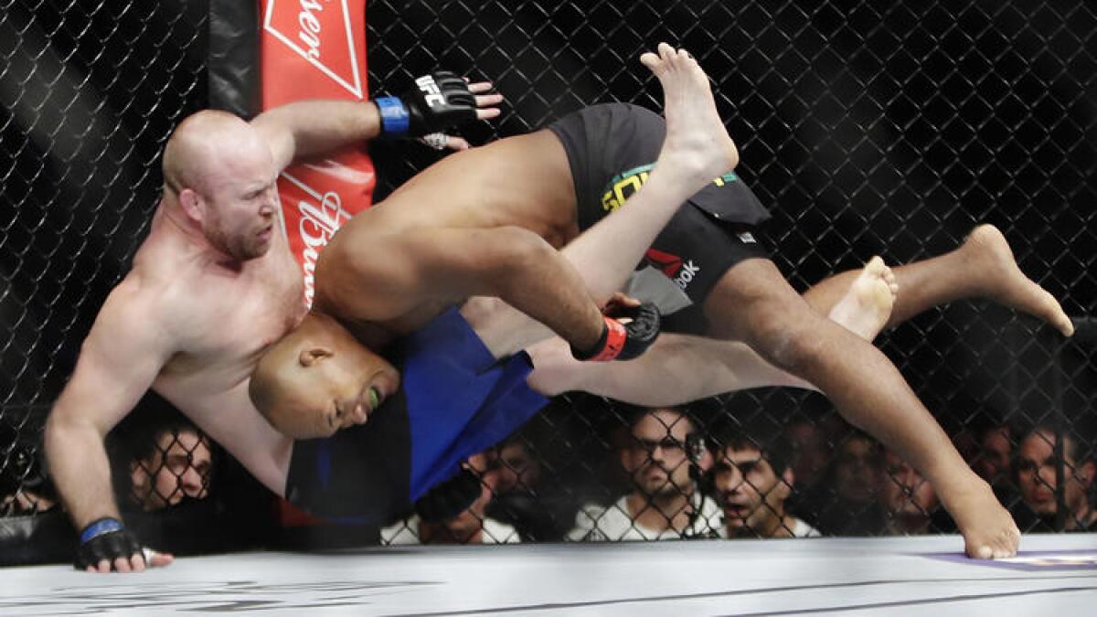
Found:
M 937 489 L 964 535 L 968 554 L 1016 552 L 1020 534 L 1009 514 L 891 361 L 812 308 L 772 261 L 734 266 L 703 308 L 711 335 L 744 340 L 771 363 L 815 384 L 848 422 L 911 461 Z

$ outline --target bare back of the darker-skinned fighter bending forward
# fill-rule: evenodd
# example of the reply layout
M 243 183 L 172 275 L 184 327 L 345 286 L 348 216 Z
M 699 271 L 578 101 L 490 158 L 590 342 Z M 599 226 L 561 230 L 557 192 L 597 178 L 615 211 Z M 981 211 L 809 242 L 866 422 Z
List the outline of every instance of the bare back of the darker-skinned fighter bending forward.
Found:
M 444 247 L 445 256 L 440 255 L 438 261 L 445 261 L 445 267 L 468 259 L 476 261 L 480 272 L 489 271 L 485 262 L 497 257 L 486 248 L 496 242 L 493 232 L 532 232 L 543 238 L 545 251 L 554 253 L 548 249 L 563 247 L 579 233 L 570 178 L 567 156 L 548 131 L 508 137 L 442 159 L 358 214 L 331 238 L 317 263 L 315 307 L 339 315 L 375 349 L 393 336 L 420 328 L 445 307 L 464 301 L 472 285 L 454 284 L 448 293 L 439 285 L 423 284 L 422 277 L 402 276 L 409 255 L 428 260 L 421 245 L 409 249 L 415 238 Z M 444 194 L 439 194 L 439 187 L 445 188 Z M 467 239 L 467 250 L 450 233 Z M 479 251 L 475 258 L 474 250 Z M 475 284 L 487 281 L 490 277 L 480 277 Z M 581 288 L 577 272 L 570 282 Z M 501 293 L 480 289 L 478 294 Z M 562 292 L 541 295 L 545 296 L 567 302 Z M 538 315 L 539 310 L 545 311 L 538 304 L 519 307 L 551 323 L 547 312 Z

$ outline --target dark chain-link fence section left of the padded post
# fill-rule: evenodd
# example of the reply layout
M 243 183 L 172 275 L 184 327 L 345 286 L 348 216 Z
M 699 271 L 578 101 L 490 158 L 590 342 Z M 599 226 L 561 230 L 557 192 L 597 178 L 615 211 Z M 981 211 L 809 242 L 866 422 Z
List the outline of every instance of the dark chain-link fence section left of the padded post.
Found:
M 52 491 L 37 460 L 45 416 L 148 225 L 168 134 L 206 104 L 206 13 L 2 2 L 0 422 L 19 444 L 0 459 L 5 514 L 53 507 L 36 490 Z M 23 447 L 35 452 L 25 464 Z

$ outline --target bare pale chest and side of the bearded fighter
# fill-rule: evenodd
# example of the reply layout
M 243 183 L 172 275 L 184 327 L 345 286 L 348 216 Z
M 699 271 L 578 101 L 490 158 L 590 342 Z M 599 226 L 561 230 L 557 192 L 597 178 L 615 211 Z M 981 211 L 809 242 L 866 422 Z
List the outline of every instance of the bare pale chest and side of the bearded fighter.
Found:
M 176 351 L 152 382 L 170 401 L 281 492 L 290 440 L 255 412 L 248 378 L 267 347 L 305 314 L 304 289 L 286 239 L 275 233 L 267 255 L 237 267 L 180 242 L 157 216 L 133 270 L 114 293 L 154 305 L 170 324 Z M 156 313 L 154 313 L 155 315 Z

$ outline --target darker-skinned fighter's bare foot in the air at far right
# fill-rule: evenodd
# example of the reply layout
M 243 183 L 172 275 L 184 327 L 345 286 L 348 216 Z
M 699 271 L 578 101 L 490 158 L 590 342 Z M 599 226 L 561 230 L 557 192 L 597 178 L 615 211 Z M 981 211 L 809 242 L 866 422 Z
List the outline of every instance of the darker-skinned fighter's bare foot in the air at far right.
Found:
M 968 254 L 970 262 L 980 269 L 986 295 L 1048 322 L 1064 336 L 1074 334 L 1074 324 L 1059 301 L 1017 267 L 1014 251 L 997 227 L 975 227 L 960 250 Z

